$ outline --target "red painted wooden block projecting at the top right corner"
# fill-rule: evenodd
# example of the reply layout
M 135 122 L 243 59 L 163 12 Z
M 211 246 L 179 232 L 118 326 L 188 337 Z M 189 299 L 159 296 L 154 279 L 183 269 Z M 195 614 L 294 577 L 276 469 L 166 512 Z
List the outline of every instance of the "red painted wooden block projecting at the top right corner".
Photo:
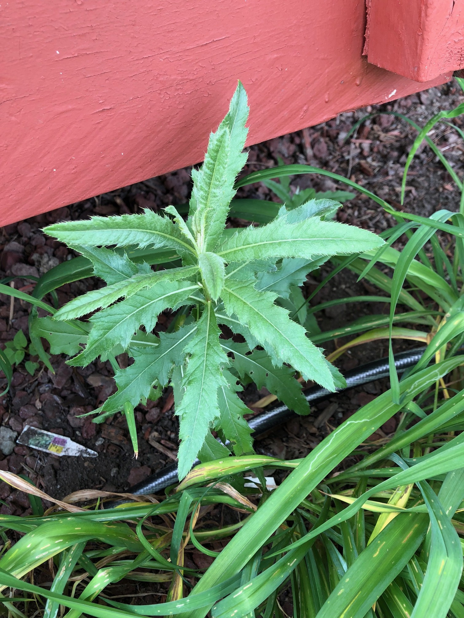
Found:
M 417 82 L 464 67 L 464 0 L 367 0 L 367 60 Z

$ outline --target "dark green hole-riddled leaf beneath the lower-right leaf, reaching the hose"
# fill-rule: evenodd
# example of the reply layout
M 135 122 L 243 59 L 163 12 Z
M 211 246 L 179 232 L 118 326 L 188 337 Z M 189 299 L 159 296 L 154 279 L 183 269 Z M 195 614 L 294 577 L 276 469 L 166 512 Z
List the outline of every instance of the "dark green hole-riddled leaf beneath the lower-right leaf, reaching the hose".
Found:
M 309 414 L 309 404 L 301 390 L 301 384 L 294 377 L 294 370 L 282 365 L 276 367 L 265 350 L 249 353 L 246 344 L 228 339 L 221 341 L 226 352 L 232 352 L 233 366 L 241 379 L 249 376 L 258 389 L 265 386 L 269 392 L 278 397 L 290 410 L 298 414 Z

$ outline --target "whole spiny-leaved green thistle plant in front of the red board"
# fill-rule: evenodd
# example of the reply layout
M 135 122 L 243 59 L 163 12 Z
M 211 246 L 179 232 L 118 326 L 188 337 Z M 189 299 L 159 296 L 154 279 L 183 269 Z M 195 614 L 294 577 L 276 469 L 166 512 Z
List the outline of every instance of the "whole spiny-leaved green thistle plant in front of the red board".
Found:
M 251 431 L 243 419 L 248 408 L 237 395 L 238 378 L 249 376 L 259 387 L 270 384 L 299 412 L 309 410 L 291 378 L 294 371 L 330 391 L 342 383 L 304 327 L 276 300 L 283 299 L 283 305 L 298 294 L 294 287 L 330 256 L 372 250 L 384 242 L 363 229 L 326 221 L 339 206 L 331 200 L 281 206 L 264 226 L 225 229 L 234 182 L 247 158 L 247 116 L 246 93 L 239 84 L 228 114 L 210 136 L 204 164 L 192 172 L 187 221 L 168 206 L 165 216 L 146 210 L 45 229 L 88 258 L 95 275 L 107 284 L 75 298 L 53 316 L 69 329 L 75 328 L 76 318 L 96 312 L 88 322 L 90 331 L 79 331 L 80 340 L 78 336 L 75 341 L 75 351 L 84 341 L 85 348 L 69 364 L 85 366 L 98 356 L 113 359 L 118 392 L 101 412 L 125 412 L 129 427 L 134 406 L 153 396 L 153 388 L 171 381 L 180 421 L 179 478 L 189 472 L 199 452 L 202 460 L 230 453 L 213 439 L 212 428 L 224 442 L 230 441 L 236 455 L 252 452 Z M 121 252 L 134 247 L 167 248 L 181 263 L 155 272 Z M 158 315 L 168 308 L 179 310 L 173 326 L 154 336 Z M 241 334 L 246 344 L 223 338 L 220 326 Z M 256 350 L 257 345 L 262 350 Z M 134 363 L 119 370 L 114 355 L 122 350 Z M 285 389 L 279 386 L 283 377 Z

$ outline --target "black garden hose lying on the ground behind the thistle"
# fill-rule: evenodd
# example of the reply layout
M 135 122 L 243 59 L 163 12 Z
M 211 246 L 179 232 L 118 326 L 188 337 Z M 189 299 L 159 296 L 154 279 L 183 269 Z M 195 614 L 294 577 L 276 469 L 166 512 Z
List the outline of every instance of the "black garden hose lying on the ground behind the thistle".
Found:
M 414 350 L 408 350 L 408 352 L 400 352 L 395 355 L 395 367 L 398 373 L 403 373 L 406 369 L 413 367 L 419 362 L 421 356 L 424 353 L 425 348 L 417 348 Z M 373 363 L 366 363 L 356 369 L 346 371 L 345 380 L 346 387 L 343 389 L 337 389 L 337 392 L 346 392 L 355 386 L 361 386 L 361 384 L 368 384 L 374 382 L 380 378 L 387 378 L 390 375 L 389 359 L 380 358 Z M 304 396 L 307 402 L 310 404 L 318 404 L 325 399 L 333 396 L 333 392 L 327 391 L 322 386 L 312 386 L 304 391 Z M 286 405 L 280 405 L 277 408 L 263 412 L 256 417 L 251 418 L 248 421 L 248 425 L 253 430 L 255 437 L 260 436 L 266 431 L 269 431 L 278 425 L 282 425 L 286 421 L 297 416 L 295 412 L 286 407 Z M 194 462 L 194 466 L 198 465 L 200 461 L 197 459 Z M 171 464 L 149 476 L 141 483 L 137 483 L 133 487 L 127 489 L 127 493 L 140 496 L 144 494 L 156 494 L 170 485 L 176 485 L 179 482 L 177 464 Z

